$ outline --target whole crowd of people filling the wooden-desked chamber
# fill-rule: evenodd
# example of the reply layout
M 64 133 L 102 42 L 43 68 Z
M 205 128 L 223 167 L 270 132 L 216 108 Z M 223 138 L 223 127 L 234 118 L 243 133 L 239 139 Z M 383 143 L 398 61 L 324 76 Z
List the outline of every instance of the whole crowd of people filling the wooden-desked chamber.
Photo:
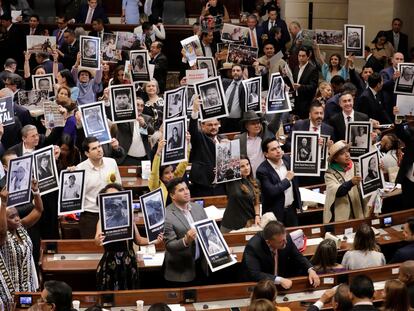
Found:
M 192 202 L 192 197 L 227 195 L 228 205 L 220 228 L 223 233 L 250 226 L 262 228 L 247 242 L 241 263 L 240 277 L 259 282 L 253 291 L 249 310 L 283 309 L 277 307 L 275 302 L 275 284 L 288 289 L 292 286 L 290 278 L 293 276 L 308 276 L 309 283 L 318 287 L 319 274 L 382 266 L 387 262 L 402 265 L 398 280 L 386 282 L 384 310 L 403 311 L 408 310 L 409 305 L 414 307 L 414 218 L 407 219 L 404 224 L 407 245 L 395 252 L 392 258 L 387 258 L 388 261 L 376 244 L 373 230 L 366 224 L 356 231 L 352 248 L 345 253 L 341 263 L 338 262 L 337 247 L 332 240 L 321 242 L 314 256 L 308 260 L 286 232 L 286 227 L 298 225 L 298 213 L 302 211 L 299 187 L 304 185 L 326 184 L 324 223 L 364 219 L 371 215 L 368 200 L 361 195 L 361 172 L 350 155 L 350 149 L 363 146 L 368 136 L 372 142 L 368 149 L 379 149 L 380 168 L 386 180 L 402 186 L 401 208 L 412 207 L 414 128 L 394 121 L 397 120 L 395 116 L 399 115 L 394 93 L 396 80 L 401 76 L 398 64 L 413 61 L 412 49 L 408 49 L 407 35 L 401 31 L 403 22 L 399 18 L 392 20 L 391 30 L 379 31 L 372 43 L 365 47 L 365 63 L 360 70 L 356 68 L 352 54 L 342 61 L 338 53 L 324 57 L 320 51 L 322 47 L 316 40 L 312 46 L 305 46 L 301 25 L 297 21 L 286 24 L 281 18 L 279 1 L 256 1 L 258 6 L 245 5 L 245 8 L 250 8 L 245 25 L 249 32 L 247 40 L 239 43 L 257 48 L 257 58 L 249 55 L 248 60 L 242 61 L 235 57 L 229 64 L 224 50 L 217 50 L 217 44 L 225 43 L 220 36 L 220 27 L 216 24 L 210 27 L 208 23 L 202 27 L 200 23 L 195 23 L 193 32 L 199 36 L 203 53 L 198 56 L 213 57 L 222 76 L 229 115 L 200 122 L 200 110 L 209 103 L 193 96 L 190 103 L 192 110 L 186 116 L 189 121 L 186 139 L 184 135 L 178 137 L 175 127 L 172 130 L 176 133 L 171 133 L 167 141 L 163 135 L 166 117 L 163 115 L 166 100 L 163 94 L 172 86 L 167 85 L 169 66 L 163 52 L 166 36 L 161 18 L 163 1 L 122 1 L 122 23 L 139 24 L 143 14 L 147 17 L 148 21 L 135 28 L 134 32 L 140 34 L 141 39 L 132 45 L 137 50 L 148 50 L 154 74 L 151 80 L 137 84 L 137 92 L 133 94 L 136 96 L 136 119 L 121 123 L 110 118 L 102 120 L 94 110 L 85 113 L 85 116 L 79 111 L 82 105 L 103 101 L 106 115 L 111 116 L 111 106 L 115 103 L 112 102 L 109 87 L 134 82 L 126 72 L 134 70 L 135 63 L 130 67 L 125 64 L 129 61 L 125 51 L 110 53 L 117 63 L 101 60 L 96 70 L 80 66 L 79 35 L 86 32 L 79 26 L 91 24 L 93 31 L 89 35 L 95 37 L 102 38 L 104 33 L 109 33 L 105 29 L 109 21 L 104 8 L 97 0 L 88 0 L 73 16 L 59 14 L 56 29 L 52 31 L 42 26 L 39 16 L 30 7 L 23 9 L 25 2 L 10 1 L 11 4 L 8 4 L 3 1 L 1 7 L 0 61 L 4 64 L 4 70 L 0 72 L 0 100 L 12 98 L 14 109 L 13 124 L 0 124 L 0 157 L 6 175 L 0 180 L 2 186 L 6 184 L 7 175 L 14 174 L 14 171 L 9 172 L 10 160 L 53 145 L 59 172 L 81 169 L 86 173 L 85 201 L 79 216 L 80 235 L 82 239 L 94 238 L 98 245 L 102 245 L 105 236 L 101 231 L 97 196 L 123 190 L 120 165 L 139 166 L 141 161 L 150 160 L 149 188 L 161 188 L 166 205 L 164 232 L 156 241 L 165 244 L 165 287 L 209 283 L 210 272 L 193 227 L 193 223 L 206 219 L 207 215 L 200 205 Z M 19 5 L 22 6 L 22 15 L 18 23 L 27 21 L 27 24 L 12 22 L 11 11 L 19 10 Z M 69 8 L 68 12 L 71 12 Z M 219 16 L 216 22 L 231 22 L 227 8 L 220 0 L 208 0 L 201 16 Z M 78 26 L 76 29 L 74 22 Z M 27 35 L 54 36 L 56 46 L 48 46 L 32 54 L 26 51 Z M 326 40 L 329 41 L 329 38 Z M 197 68 L 189 65 L 184 50 L 182 54 L 180 85 L 187 86 L 186 70 Z M 276 58 L 277 55 L 281 57 Z M 53 81 L 46 80 L 48 86 L 45 88 L 53 88 L 50 100 L 58 105 L 64 119 L 63 126 L 51 129 L 45 127 L 42 118 L 32 116 L 32 111 L 20 105 L 18 100 L 20 92 L 42 88 L 40 84 L 43 81 L 40 80 L 38 85 L 32 85 L 35 81 L 33 76 L 48 73 L 52 74 Z M 246 99 L 246 90 L 240 82 L 261 77 L 262 98 L 257 100 L 261 101 L 261 107 L 266 107 L 266 93 L 275 91 L 270 89 L 274 73 L 279 73 L 284 80 L 288 97 L 285 100 L 291 101 L 292 111 L 274 115 L 266 114 L 264 108 L 262 113 L 247 111 L 246 100 L 249 103 L 252 100 L 250 97 Z M 216 91 L 215 88 L 212 90 Z M 118 93 L 115 108 L 131 108 L 128 94 Z M 208 95 L 205 97 L 207 101 Z M 181 103 L 185 105 L 183 98 Z M 179 111 L 186 109 L 181 107 Z M 101 128 L 108 123 L 110 142 L 101 144 L 97 137 L 85 137 L 83 121 L 91 128 Z M 353 140 L 348 144 L 345 141 L 347 127 L 355 121 L 370 122 L 372 132 L 357 127 Z M 393 124 L 393 133 L 383 133 L 382 125 L 388 124 Z M 292 146 L 295 143 L 292 133 L 295 131 L 329 136 L 326 142 L 329 149 L 328 167 L 320 176 L 295 176 L 291 168 L 292 150 L 296 150 L 299 161 L 318 158 L 312 154 L 309 138 L 302 138 L 298 146 Z M 228 138 L 224 134 L 229 132 L 236 132 L 235 139 L 240 142 L 240 164 L 236 165 L 237 161 L 232 160 L 225 167 L 216 167 L 216 144 L 226 142 Z M 189 160 L 178 165 L 161 165 L 164 148 L 179 148 L 183 143 L 188 145 Z M 222 160 L 229 160 L 228 157 L 230 154 L 223 151 Z M 45 161 L 45 166 L 49 165 L 48 160 Z M 40 159 L 39 163 L 42 167 L 43 160 Z M 191 170 L 187 176 L 189 163 Z M 378 177 L 375 167 L 375 163 L 369 161 L 372 172 L 367 177 Z M 52 172 L 42 174 L 48 177 Z M 215 183 L 217 175 L 225 181 L 234 179 L 235 175 L 240 178 Z M 33 179 L 31 185 L 31 202 L 16 207 L 7 206 L 7 190 L 0 192 L 0 298 L 5 305 L 12 302 L 16 292 L 41 288 L 38 279 L 40 240 L 60 238 L 58 191 L 40 196 L 38 182 Z M 262 216 L 266 213 L 270 213 L 273 220 L 265 221 Z M 98 290 L 140 287 L 132 248 L 134 243 L 148 244 L 148 239 L 139 234 L 135 225 L 133 239 L 104 245 L 104 255 L 97 267 Z M 58 304 L 69 305 L 71 301 L 67 284 L 46 282 L 43 287 L 41 302 L 54 304 L 58 310 L 69 310 L 58 308 Z M 61 291 L 55 294 L 57 288 Z M 362 310 L 360 306 L 372 305 L 373 294 L 372 280 L 367 276 L 358 276 L 349 286 L 341 285 L 326 291 L 308 310 L 319 310 L 332 298 L 334 309 Z M 374 307 L 365 309 L 374 310 Z M 158 306 L 153 310 L 166 309 Z

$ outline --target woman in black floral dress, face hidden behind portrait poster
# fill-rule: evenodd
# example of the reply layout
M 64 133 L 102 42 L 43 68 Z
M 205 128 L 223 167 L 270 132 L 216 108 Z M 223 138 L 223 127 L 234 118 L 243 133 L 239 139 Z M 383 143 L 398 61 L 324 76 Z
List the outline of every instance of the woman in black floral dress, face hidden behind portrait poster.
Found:
M 119 184 L 108 184 L 99 193 L 115 193 L 123 191 Z M 101 220 L 96 225 L 95 242 L 102 246 L 105 236 L 101 231 Z M 157 244 L 163 240 L 163 234 L 157 239 Z M 139 288 L 138 264 L 135 258 L 133 243 L 147 245 L 147 238 L 143 238 L 134 225 L 134 239 L 118 241 L 104 245 L 104 254 L 96 271 L 98 290 L 127 290 Z

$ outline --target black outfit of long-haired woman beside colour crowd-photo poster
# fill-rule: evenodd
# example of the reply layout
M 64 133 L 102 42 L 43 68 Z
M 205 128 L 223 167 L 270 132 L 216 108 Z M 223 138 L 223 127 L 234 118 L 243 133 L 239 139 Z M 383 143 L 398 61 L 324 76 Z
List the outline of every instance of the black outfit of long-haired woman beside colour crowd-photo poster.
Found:
M 249 193 L 241 190 L 241 185 L 247 186 Z M 255 195 L 252 183 L 242 178 L 226 184 L 227 207 L 221 221 L 222 227 L 230 230 L 237 230 L 246 227 L 248 220 L 255 218 Z

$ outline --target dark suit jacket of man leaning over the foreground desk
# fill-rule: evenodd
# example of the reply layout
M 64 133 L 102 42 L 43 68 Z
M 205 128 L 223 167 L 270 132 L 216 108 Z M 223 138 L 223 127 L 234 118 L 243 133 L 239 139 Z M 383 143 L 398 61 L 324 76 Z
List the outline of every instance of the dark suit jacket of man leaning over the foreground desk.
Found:
M 278 250 L 278 276 L 307 275 L 307 271 L 312 265 L 298 251 L 289 234 L 286 235 L 286 240 L 286 247 Z M 249 281 L 258 282 L 275 279 L 274 256 L 263 237 L 263 232 L 256 233 L 247 243 L 243 253 L 242 265 L 247 272 Z

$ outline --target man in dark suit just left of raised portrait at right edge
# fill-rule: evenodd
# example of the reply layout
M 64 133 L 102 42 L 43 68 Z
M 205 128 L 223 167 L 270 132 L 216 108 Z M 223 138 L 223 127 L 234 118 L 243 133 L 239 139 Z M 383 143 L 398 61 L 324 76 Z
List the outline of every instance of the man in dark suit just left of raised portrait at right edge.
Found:
M 381 70 L 380 74 L 383 79 L 382 95 L 384 97 L 384 103 L 386 111 L 389 115 L 393 113 L 393 107 L 397 103 L 397 95 L 394 94 L 395 80 L 400 76 L 398 71 L 398 64 L 404 62 L 404 55 L 400 52 L 394 53 L 391 63 L 392 66 Z

